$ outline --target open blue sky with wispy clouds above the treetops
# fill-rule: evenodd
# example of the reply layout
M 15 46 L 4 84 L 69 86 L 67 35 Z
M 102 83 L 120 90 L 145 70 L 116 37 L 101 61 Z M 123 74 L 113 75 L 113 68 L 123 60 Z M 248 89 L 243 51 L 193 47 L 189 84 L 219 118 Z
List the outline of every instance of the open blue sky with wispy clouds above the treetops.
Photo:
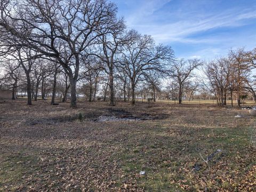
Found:
M 171 45 L 178 58 L 213 59 L 256 47 L 256 0 L 112 0 L 126 25 Z

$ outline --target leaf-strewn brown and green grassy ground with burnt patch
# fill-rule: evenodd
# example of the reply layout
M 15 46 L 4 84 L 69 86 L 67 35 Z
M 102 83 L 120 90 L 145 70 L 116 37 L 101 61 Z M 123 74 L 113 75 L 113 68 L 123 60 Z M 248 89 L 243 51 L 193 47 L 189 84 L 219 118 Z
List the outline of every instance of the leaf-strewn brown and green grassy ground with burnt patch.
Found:
M 47 190 L 255 191 L 256 118 L 159 102 L 0 103 L 0 191 Z

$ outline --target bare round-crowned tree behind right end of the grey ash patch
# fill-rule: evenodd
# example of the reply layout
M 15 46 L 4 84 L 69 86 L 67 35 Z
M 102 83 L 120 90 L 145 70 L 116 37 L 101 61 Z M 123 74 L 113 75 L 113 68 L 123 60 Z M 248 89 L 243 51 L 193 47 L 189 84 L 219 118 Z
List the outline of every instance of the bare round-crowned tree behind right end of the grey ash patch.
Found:
M 148 70 L 165 71 L 166 63 L 173 60 L 174 53 L 171 47 L 158 45 L 151 36 L 140 35 L 137 31 L 129 31 L 133 36 L 129 43 L 125 44 L 122 51 L 121 67 L 124 69 L 131 82 L 132 104 L 135 103 L 135 87 L 144 79 L 143 75 Z

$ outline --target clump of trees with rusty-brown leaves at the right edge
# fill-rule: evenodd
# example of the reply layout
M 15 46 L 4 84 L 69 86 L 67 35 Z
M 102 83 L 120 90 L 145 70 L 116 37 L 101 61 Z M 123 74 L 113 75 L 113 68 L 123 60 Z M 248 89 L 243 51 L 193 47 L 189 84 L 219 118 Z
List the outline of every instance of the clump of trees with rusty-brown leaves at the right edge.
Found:
M 256 61 L 256 49 L 244 51 L 237 49 L 229 51 L 227 57 L 218 58 L 207 62 L 202 71 L 203 85 L 212 93 L 219 106 L 227 105 L 227 99 L 233 106 L 234 95 L 237 105 L 241 106 L 241 99 L 251 94 L 256 102 L 256 81 L 253 69 Z M 255 73 L 255 72 L 254 72 Z

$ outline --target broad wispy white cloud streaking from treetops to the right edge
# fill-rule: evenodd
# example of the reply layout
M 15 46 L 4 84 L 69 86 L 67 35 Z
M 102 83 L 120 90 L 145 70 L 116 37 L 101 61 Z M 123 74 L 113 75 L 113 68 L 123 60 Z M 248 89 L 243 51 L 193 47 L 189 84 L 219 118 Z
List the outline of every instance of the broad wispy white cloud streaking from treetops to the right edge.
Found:
M 136 9 L 126 19 L 130 28 L 137 29 L 140 33 L 152 35 L 158 43 L 217 43 L 218 38 L 197 38 L 191 35 L 202 33 L 210 29 L 221 27 L 239 27 L 246 25 L 246 19 L 256 18 L 256 11 L 226 10 L 222 13 L 195 13 L 183 12 L 176 15 L 180 18 L 177 22 L 157 22 L 161 17 L 171 17 L 173 13 L 156 15 L 155 11 L 161 9 L 170 1 L 147 1 Z M 199 11 L 198 11 L 199 12 Z M 171 14 L 171 15 L 170 15 Z M 221 40 L 221 39 L 220 39 Z

